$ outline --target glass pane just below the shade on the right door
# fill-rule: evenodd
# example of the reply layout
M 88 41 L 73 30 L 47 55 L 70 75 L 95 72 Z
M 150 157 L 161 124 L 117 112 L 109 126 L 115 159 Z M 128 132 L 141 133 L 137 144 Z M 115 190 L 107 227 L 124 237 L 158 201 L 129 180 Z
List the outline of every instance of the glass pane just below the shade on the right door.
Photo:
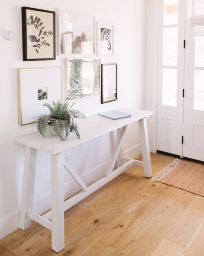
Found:
M 195 67 L 204 67 L 204 36 L 195 36 Z

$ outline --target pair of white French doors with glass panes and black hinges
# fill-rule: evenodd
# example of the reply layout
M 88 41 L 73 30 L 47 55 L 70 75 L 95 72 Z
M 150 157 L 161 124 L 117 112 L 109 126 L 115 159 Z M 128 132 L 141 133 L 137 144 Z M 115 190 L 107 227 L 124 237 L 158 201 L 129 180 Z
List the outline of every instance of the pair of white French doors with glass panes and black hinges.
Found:
M 190 34 L 191 3 L 160 0 L 157 151 L 204 161 L 204 37 Z

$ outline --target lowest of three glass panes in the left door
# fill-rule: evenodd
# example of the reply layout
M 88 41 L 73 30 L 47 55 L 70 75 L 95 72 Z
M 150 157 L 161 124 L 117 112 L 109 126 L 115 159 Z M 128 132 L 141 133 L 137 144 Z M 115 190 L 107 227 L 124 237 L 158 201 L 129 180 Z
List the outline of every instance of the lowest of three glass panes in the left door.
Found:
M 163 68 L 162 105 L 176 106 L 177 69 Z

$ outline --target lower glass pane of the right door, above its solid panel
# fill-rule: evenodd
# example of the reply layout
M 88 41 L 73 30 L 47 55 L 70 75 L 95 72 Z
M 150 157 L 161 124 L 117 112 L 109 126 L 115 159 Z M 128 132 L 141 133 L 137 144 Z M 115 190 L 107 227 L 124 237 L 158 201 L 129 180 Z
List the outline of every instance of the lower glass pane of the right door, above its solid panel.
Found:
M 204 111 L 204 70 L 195 70 L 194 73 L 193 109 Z

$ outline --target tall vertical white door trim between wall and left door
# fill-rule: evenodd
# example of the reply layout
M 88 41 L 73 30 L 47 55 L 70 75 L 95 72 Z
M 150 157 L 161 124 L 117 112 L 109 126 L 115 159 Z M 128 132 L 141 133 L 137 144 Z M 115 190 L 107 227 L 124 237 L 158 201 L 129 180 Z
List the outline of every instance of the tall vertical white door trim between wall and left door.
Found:
M 151 109 L 149 118 L 150 151 L 157 151 L 157 98 L 158 98 L 158 0 L 146 0 L 146 64 L 145 109 Z

